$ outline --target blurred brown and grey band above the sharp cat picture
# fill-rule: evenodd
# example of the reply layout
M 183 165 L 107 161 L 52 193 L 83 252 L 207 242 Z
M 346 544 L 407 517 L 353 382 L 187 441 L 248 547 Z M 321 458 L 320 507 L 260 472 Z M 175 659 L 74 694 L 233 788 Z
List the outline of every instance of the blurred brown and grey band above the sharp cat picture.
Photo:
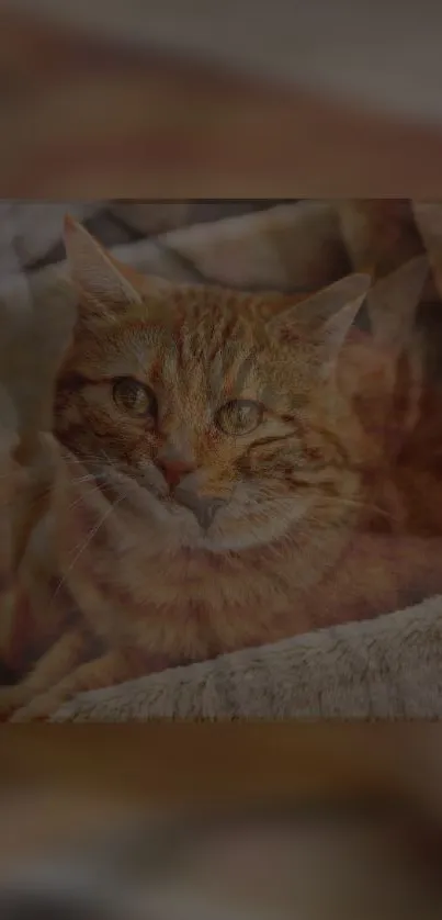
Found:
M 432 2 L 10 0 L 1 193 L 435 198 Z

